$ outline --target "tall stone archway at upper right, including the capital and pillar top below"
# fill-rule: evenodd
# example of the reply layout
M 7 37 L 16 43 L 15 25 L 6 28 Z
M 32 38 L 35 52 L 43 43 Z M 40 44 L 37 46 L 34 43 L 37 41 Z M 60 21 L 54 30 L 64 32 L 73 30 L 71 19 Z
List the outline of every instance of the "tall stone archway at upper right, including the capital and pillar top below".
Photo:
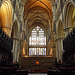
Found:
M 73 1 L 67 1 L 64 6 L 63 20 L 65 37 L 71 32 L 72 28 L 75 28 L 75 4 Z

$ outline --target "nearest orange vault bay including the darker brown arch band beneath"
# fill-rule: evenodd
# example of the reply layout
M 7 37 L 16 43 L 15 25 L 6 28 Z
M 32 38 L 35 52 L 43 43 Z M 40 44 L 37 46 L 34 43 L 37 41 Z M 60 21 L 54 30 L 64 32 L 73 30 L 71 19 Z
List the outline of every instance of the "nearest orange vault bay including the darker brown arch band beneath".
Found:
M 24 7 L 24 18 L 27 18 L 27 15 L 33 10 L 42 10 L 49 16 L 49 19 L 52 17 L 52 7 L 51 2 L 47 0 L 28 0 L 25 3 Z

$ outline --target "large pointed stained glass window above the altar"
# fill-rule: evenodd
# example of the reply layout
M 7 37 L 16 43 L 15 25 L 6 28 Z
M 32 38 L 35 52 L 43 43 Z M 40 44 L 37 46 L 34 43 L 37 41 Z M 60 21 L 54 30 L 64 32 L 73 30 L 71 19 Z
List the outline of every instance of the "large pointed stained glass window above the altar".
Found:
M 46 55 L 46 34 L 36 26 L 29 37 L 29 55 Z

